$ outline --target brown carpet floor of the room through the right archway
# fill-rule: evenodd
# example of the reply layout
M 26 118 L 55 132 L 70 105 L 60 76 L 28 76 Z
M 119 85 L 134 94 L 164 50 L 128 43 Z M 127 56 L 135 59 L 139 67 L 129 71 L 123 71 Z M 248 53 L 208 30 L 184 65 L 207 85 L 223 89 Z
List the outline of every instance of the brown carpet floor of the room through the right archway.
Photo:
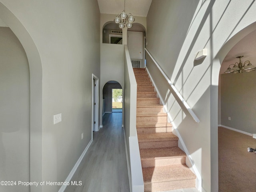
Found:
M 256 192 L 256 139 L 219 127 L 218 145 L 219 192 Z

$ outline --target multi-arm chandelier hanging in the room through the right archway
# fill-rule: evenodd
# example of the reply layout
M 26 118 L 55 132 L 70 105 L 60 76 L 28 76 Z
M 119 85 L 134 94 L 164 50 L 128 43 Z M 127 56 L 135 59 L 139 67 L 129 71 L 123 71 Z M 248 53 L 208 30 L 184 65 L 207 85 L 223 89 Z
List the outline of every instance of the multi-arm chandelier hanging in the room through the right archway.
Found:
M 250 71 L 256 70 L 256 67 L 252 65 L 250 61 L 246 61 L 243 64 L 241 61 L 242 57 L 243 55 L 236 57 L 236 58 L 239 58 L 239 63 L 236 62 L 235 64 L 230 64 L 228 66 L 228 69 L 224 73 L 242 73 L 244 71 L 250 72 Z M 231 65 L 234 65 L 232 69 L 230 68 Z

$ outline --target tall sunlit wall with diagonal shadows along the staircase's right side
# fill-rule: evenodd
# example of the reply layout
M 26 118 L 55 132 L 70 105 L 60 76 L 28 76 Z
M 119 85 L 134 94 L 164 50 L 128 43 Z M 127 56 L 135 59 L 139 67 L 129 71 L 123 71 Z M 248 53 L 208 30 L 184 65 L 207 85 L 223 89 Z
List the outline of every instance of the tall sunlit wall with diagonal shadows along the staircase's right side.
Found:
M 182 111 L 146 57 L 207 192 L 218 191 L 218 74 L 223 59 L 220 50 L 226 52 L 228 48 L 222 48 L 225 43 L 255 22 L 256 6 L 251 3 L 153 0 L 147 16 L 146 48 L 200 119 L 197 124 Z M 208 49 L 208 56 L 194 61 L 194 54 L 203 48 Z

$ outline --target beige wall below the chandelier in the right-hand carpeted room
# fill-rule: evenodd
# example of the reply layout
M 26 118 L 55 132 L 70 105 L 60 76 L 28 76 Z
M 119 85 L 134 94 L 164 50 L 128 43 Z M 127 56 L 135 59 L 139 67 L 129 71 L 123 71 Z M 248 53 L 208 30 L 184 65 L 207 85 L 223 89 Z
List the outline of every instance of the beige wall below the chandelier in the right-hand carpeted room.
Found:
M 256 71 L 221 75 L 222 125 L 251 134 L 256 132 L 255 82 Z

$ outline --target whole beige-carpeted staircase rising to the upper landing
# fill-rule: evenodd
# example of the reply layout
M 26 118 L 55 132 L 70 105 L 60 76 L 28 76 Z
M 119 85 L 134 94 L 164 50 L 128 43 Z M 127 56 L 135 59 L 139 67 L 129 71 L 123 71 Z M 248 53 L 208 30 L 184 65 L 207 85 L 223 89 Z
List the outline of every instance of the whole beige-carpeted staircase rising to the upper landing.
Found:
M 145 68 L 134 68 L 137 82 L 136 127 L 145 192 L 195 187 L 196 176 L 186 166 L 167 114 L 160 105 Z

